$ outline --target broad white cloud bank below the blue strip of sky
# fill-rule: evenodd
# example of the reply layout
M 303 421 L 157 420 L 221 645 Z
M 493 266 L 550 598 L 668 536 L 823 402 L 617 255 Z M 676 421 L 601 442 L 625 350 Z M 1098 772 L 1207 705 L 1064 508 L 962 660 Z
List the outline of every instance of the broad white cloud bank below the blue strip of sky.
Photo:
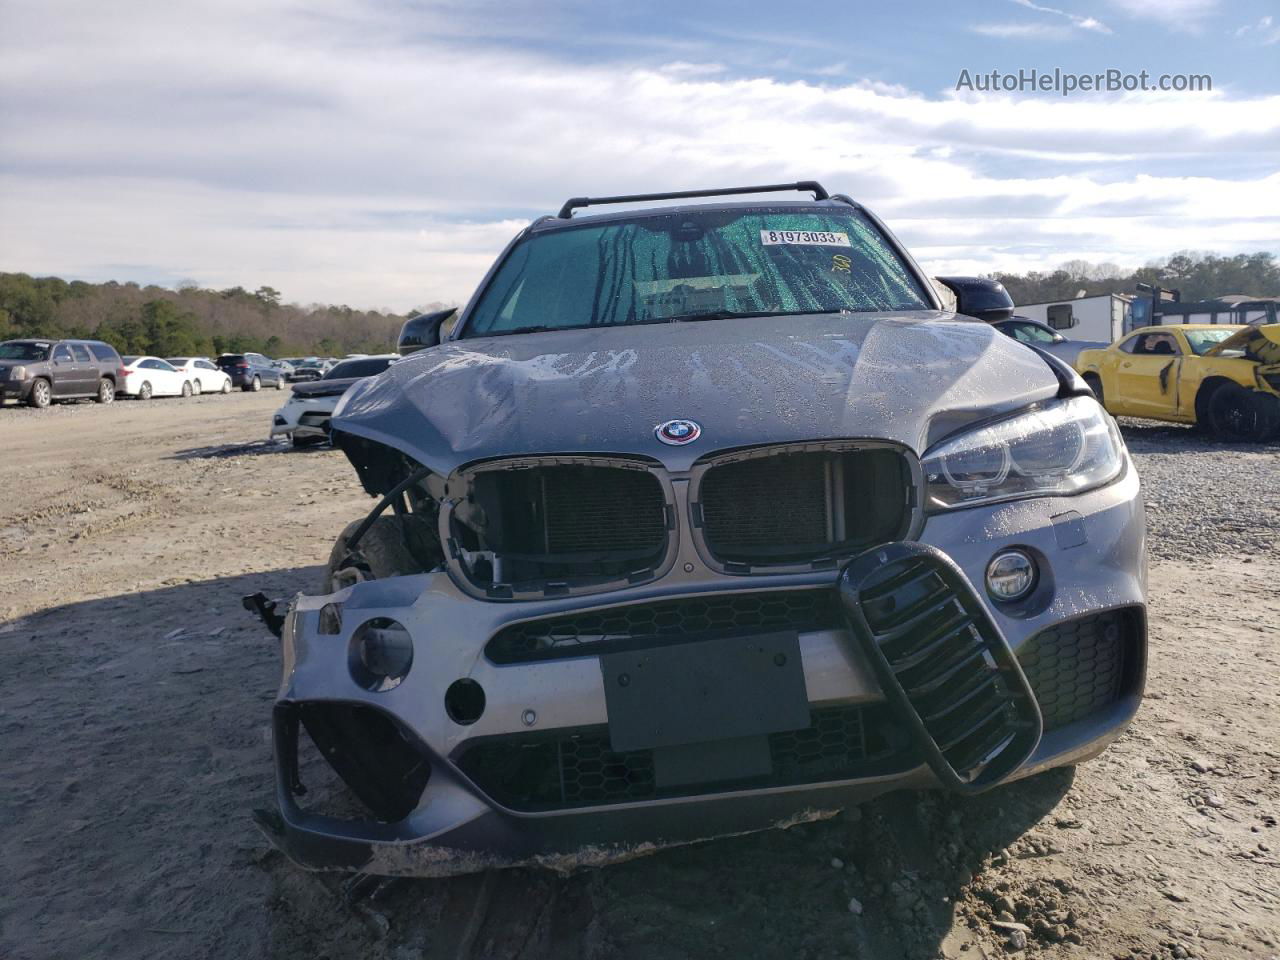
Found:
M 0 269 L 407 308 L 465 300 L 568 196 L 800 178 L 865 201 L 937 269 L 1280 236 L 1280 96 L 928 97 L 463 50 L 358 0 L 234 3 L 200 31 L 163 4 L 18 8 Z

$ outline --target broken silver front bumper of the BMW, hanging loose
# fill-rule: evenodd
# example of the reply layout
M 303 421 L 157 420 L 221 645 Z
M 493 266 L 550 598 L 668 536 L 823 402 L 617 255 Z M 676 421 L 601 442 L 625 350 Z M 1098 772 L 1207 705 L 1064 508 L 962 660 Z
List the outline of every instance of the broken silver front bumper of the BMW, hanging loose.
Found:
M 273 721 L 279 809 L 260 823 L 314 869 L 572 869 L 819 819 L 891 790 L 984 788 L 1089 759 L 1124 731 L 1146 671 L 1132 467 L 1073 498 L 933 516 L 919 540 L 844 572 L 732 580 L 690 549 L 668 577 L 608 595 L 486 603 L 435 572 L 298 596 Z M 1009 547 L 1041 568 L 1011 607 L 980 590 Z M 970 626 L 938 645 L 956 611 Z M 358 666 L 374 622 L 412 645 L 403 680 L 381 689 Z M 599 643 L 652 637 L 655 623 L 698 639 Z M 704 645 L 726 634 L 794 671 L 808 726 L 783 718 L 794 691 L 754 687 L 736 660 L 726 684 L 778 692 L 701 717 L 701 739 L 646 724 L 618 694 L 628 663 L 669 685 L 682 657 L 698 672 L 698 652 L 717 654 Z M 311 742 L 372 814 L 310 805 L 298 751 Z

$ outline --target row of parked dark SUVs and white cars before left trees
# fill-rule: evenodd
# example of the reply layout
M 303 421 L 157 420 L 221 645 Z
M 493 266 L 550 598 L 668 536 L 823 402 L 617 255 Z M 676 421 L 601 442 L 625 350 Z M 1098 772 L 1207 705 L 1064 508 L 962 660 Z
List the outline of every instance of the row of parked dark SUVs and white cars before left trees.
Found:
M 210 357 L 122 357 L 102 340 L 17 339 L 0 343 L 0 403 L 15 399 L 32 407 L 55 401 L 116 397 L 192 397 L 230 393 L 234 388 L 284 389 L 287 372 L 261 353 Z

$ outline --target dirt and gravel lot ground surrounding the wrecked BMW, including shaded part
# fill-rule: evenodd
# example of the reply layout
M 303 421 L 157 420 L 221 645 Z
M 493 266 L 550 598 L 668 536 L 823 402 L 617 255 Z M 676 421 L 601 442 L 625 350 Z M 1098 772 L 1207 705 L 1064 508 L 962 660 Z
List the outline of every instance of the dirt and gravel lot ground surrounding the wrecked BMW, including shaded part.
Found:
M 1274 538 L 1152 552 L 1147 703 L 1076 771 L 572 877 L 296 869 L 251 823 L 279 668 L 239 598 L 314 589 L 369 500 L 262 442 L 282 397 L 0 410 L 0 957 L 1280 955 Z M 1280 500 L 1275 448 L 1146 436 L 1261 476 L 1233 522 Z

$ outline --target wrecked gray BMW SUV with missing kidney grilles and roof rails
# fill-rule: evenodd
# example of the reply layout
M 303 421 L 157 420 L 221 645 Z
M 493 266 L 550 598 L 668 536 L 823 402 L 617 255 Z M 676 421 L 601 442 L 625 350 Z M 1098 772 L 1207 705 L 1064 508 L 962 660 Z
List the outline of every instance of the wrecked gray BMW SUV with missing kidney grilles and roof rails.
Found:
M 1102 751 L 1146 671 L 1137 472 L 998 284 L 942 282 L 955 312 L 814 182 L 524 229 L 335 410 L 378 504 L 323 591 L 250 598 L 261 826 L 312 868 L 599 864 Z

